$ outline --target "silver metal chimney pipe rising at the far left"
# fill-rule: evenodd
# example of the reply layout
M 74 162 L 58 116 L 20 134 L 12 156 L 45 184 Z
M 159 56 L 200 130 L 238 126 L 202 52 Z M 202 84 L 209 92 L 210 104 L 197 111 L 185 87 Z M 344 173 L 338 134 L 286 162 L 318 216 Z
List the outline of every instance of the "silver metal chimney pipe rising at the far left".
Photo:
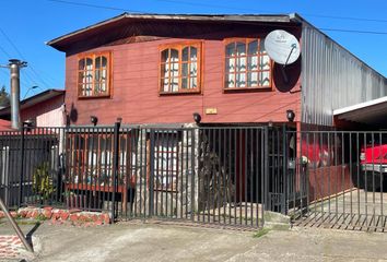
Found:
M 19 59 L 10 59 L 9 68 L 11 71 L 11 127 L 20 130 L 20 68 L 26 67 L 26 62 Z

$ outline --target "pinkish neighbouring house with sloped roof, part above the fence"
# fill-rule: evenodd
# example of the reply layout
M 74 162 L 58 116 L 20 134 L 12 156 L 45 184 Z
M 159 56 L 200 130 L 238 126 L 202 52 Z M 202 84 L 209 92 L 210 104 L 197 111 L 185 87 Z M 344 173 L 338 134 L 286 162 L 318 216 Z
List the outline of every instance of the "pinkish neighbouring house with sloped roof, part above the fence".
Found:
M 64 91 L 47 90 L 20 103 L 21 121 L 31 120 L 36 127 L 63 127 Z M 10 120 L 11 108 L 0 109 L 0 118 Z

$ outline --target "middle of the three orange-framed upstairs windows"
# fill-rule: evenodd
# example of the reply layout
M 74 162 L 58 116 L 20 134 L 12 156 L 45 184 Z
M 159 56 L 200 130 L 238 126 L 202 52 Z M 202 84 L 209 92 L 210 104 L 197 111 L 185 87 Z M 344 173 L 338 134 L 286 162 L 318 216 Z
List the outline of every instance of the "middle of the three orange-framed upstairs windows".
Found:
M 200 92 L 200 44 L 169 45 L 161 50 L 160 93 Z

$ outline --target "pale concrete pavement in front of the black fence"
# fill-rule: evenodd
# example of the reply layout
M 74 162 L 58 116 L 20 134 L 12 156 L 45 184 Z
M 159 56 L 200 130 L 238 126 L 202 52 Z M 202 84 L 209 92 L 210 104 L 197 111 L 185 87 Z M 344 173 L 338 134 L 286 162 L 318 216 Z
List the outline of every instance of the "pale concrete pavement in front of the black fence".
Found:
M 33 225 L 23 225 L 26 233 Z M 387 234 L 293 228 L 251 231 L 120 223 L 35 228 L 35 258 L 26 261 L 386 261 Z M 0 235 L 12 234 L 7 224 Z M 20 258 L 16 261 L 21 261 Z

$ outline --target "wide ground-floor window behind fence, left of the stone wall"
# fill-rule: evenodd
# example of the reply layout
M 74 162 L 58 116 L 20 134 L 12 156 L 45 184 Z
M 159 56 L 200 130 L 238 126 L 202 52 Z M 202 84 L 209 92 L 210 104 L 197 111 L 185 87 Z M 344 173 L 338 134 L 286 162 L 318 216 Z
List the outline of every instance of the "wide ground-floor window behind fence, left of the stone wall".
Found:
M 120 134 L 118 184 L 132 181 L 136 143 L 130 134 Z M 113 186 L 113 132 L 72 133 L 67 139 L 68 180 L 74 184 Z

